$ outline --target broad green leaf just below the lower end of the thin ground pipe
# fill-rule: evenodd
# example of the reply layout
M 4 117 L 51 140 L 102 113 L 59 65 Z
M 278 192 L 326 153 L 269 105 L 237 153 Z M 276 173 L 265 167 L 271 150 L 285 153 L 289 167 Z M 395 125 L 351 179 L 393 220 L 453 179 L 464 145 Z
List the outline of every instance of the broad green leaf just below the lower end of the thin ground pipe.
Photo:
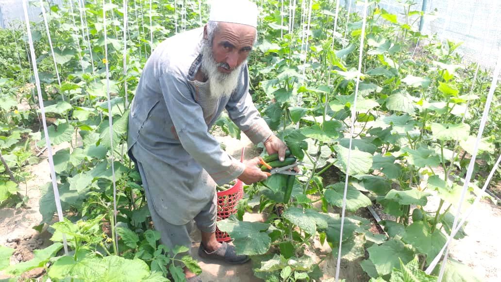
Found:
M 414 253 L 402 241 L 390 239 L 381 245 L 372 245 L 367 248 L 369 259 L 374 263 L 379 275 L 391 273 L 394 267 L 400 265 L 400 259 L 408 263 L 414 258 Z

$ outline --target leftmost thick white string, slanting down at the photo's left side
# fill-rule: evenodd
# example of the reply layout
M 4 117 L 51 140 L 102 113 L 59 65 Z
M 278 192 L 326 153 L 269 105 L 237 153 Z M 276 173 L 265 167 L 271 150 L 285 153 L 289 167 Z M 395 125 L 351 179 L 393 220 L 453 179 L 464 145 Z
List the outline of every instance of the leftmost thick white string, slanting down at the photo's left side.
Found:
M 59 221 L 63 221 L 63 209 L 61 208 L 61 198 L 59 197 L 56 171 L 54 169 L 54 160 L 53 160 L 53 156 L 52 156 L 51 139 L 49 137 L 49 130 L 47 129 L 47 122 L 45 119 L 44 100 L 42 98 L 42 89 L 40 87 L 40 79 L 38 76 L 38 68 L 37 68 L 37 59 L 35 56 L 35 47 L 33 46 L 33 39 L 31 36 L 30 19 L 28 18 L 28 9 L 26 7 L 26 1 L 27 0 L 23 0 L 23 10 L 25 13 L 26 29 L 27 29 L 27 33 L 28 33 L 28 41 L 30 44 L 30 52 L 31 52 L 31 56 L 32 56 L 33 73 L 35 75 L 35 83 L 37 84 L 37 93 L 38 93 L 38 102 L 40 105 L 40 113 L 42 115 L 42 123 L 44 125 L 45 142 L 47 144 L 47 154 L 48 154 L 48 158 L 49 158 L 49 166 L 51 169 L 52 189 L 54 190 L 54 201 L 56 202 L 56 210 L 58 212 Z M 64 246 L 65 254 L 68 255 L 68 242 L 66 241 L 66 235 L 64 233 L 63 233 L 63 246 Z

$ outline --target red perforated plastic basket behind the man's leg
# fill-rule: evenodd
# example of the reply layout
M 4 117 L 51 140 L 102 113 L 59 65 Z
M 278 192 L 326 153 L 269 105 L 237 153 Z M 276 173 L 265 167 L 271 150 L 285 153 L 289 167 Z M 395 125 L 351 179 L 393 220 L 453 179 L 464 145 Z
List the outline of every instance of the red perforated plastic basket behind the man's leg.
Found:
M 243 162 L 243 152 L 240 156 L 240 162 Z M 236 205 L 243 197 L 243 182 L 236 179 L 235 185 L 226 191 L 217 192 L 217 219 L 216 219 L 216 240 L 218 242 L 227 242 L 231 237 L 226 232 L 222 232 L 217 228 L 217 221 L 226 219 L 230 215 L 236 213 Z

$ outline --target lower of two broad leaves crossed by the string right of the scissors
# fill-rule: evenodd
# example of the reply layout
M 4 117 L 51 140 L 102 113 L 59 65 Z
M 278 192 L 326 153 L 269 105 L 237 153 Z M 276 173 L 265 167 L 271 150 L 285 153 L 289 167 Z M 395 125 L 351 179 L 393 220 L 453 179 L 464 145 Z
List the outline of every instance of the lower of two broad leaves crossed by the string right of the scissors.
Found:
M 328 185 L 326 188 L 327 190 L 325 190 L 324 196 L 327 202 L 331 205 L 342 207 L 344 183 L 338 182 Z M 346 208 L 349 211 L 356 211 L 361 207 L 366 207 L 371 204 L 371 200 L 366 195 L 362 194 L 352 185 L 348 185 L 348 190 L 346 191 Z

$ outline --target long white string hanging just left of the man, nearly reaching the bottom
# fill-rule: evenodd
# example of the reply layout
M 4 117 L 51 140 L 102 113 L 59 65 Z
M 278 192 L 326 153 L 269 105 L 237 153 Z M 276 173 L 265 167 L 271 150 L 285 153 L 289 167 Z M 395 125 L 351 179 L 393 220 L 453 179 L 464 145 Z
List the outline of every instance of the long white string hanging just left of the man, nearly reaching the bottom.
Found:
M 111 174 L 112 174 L 112 180 L 113 180 L 113 218 L 115 219 L 114 221 L 114 226 L 111 228 L 115 229 L 117 225 L 117 186 L 116 186 L 116 180 L 115 180 L 115 164 L 114 164 L 114 155 L 113 155 L 113 114 L 111 112 L 111 99 L 110 99 L 110 71 L 108 68 L 108 36 L 107 36 L 107 29 L 106 29 L 106 9 L 104 9 L 104 4 L 105 0 L 103 0 L 103 28 L 104 28 L 104 59 L 105 59 L 105 66 L 106 66 L 106 95 L 108 98 L 108 123 L 110 126 L 110 151 L 111 151 Z M 115 244 L 117 245 L 118 249 L 118 233 L 115 232 Z

